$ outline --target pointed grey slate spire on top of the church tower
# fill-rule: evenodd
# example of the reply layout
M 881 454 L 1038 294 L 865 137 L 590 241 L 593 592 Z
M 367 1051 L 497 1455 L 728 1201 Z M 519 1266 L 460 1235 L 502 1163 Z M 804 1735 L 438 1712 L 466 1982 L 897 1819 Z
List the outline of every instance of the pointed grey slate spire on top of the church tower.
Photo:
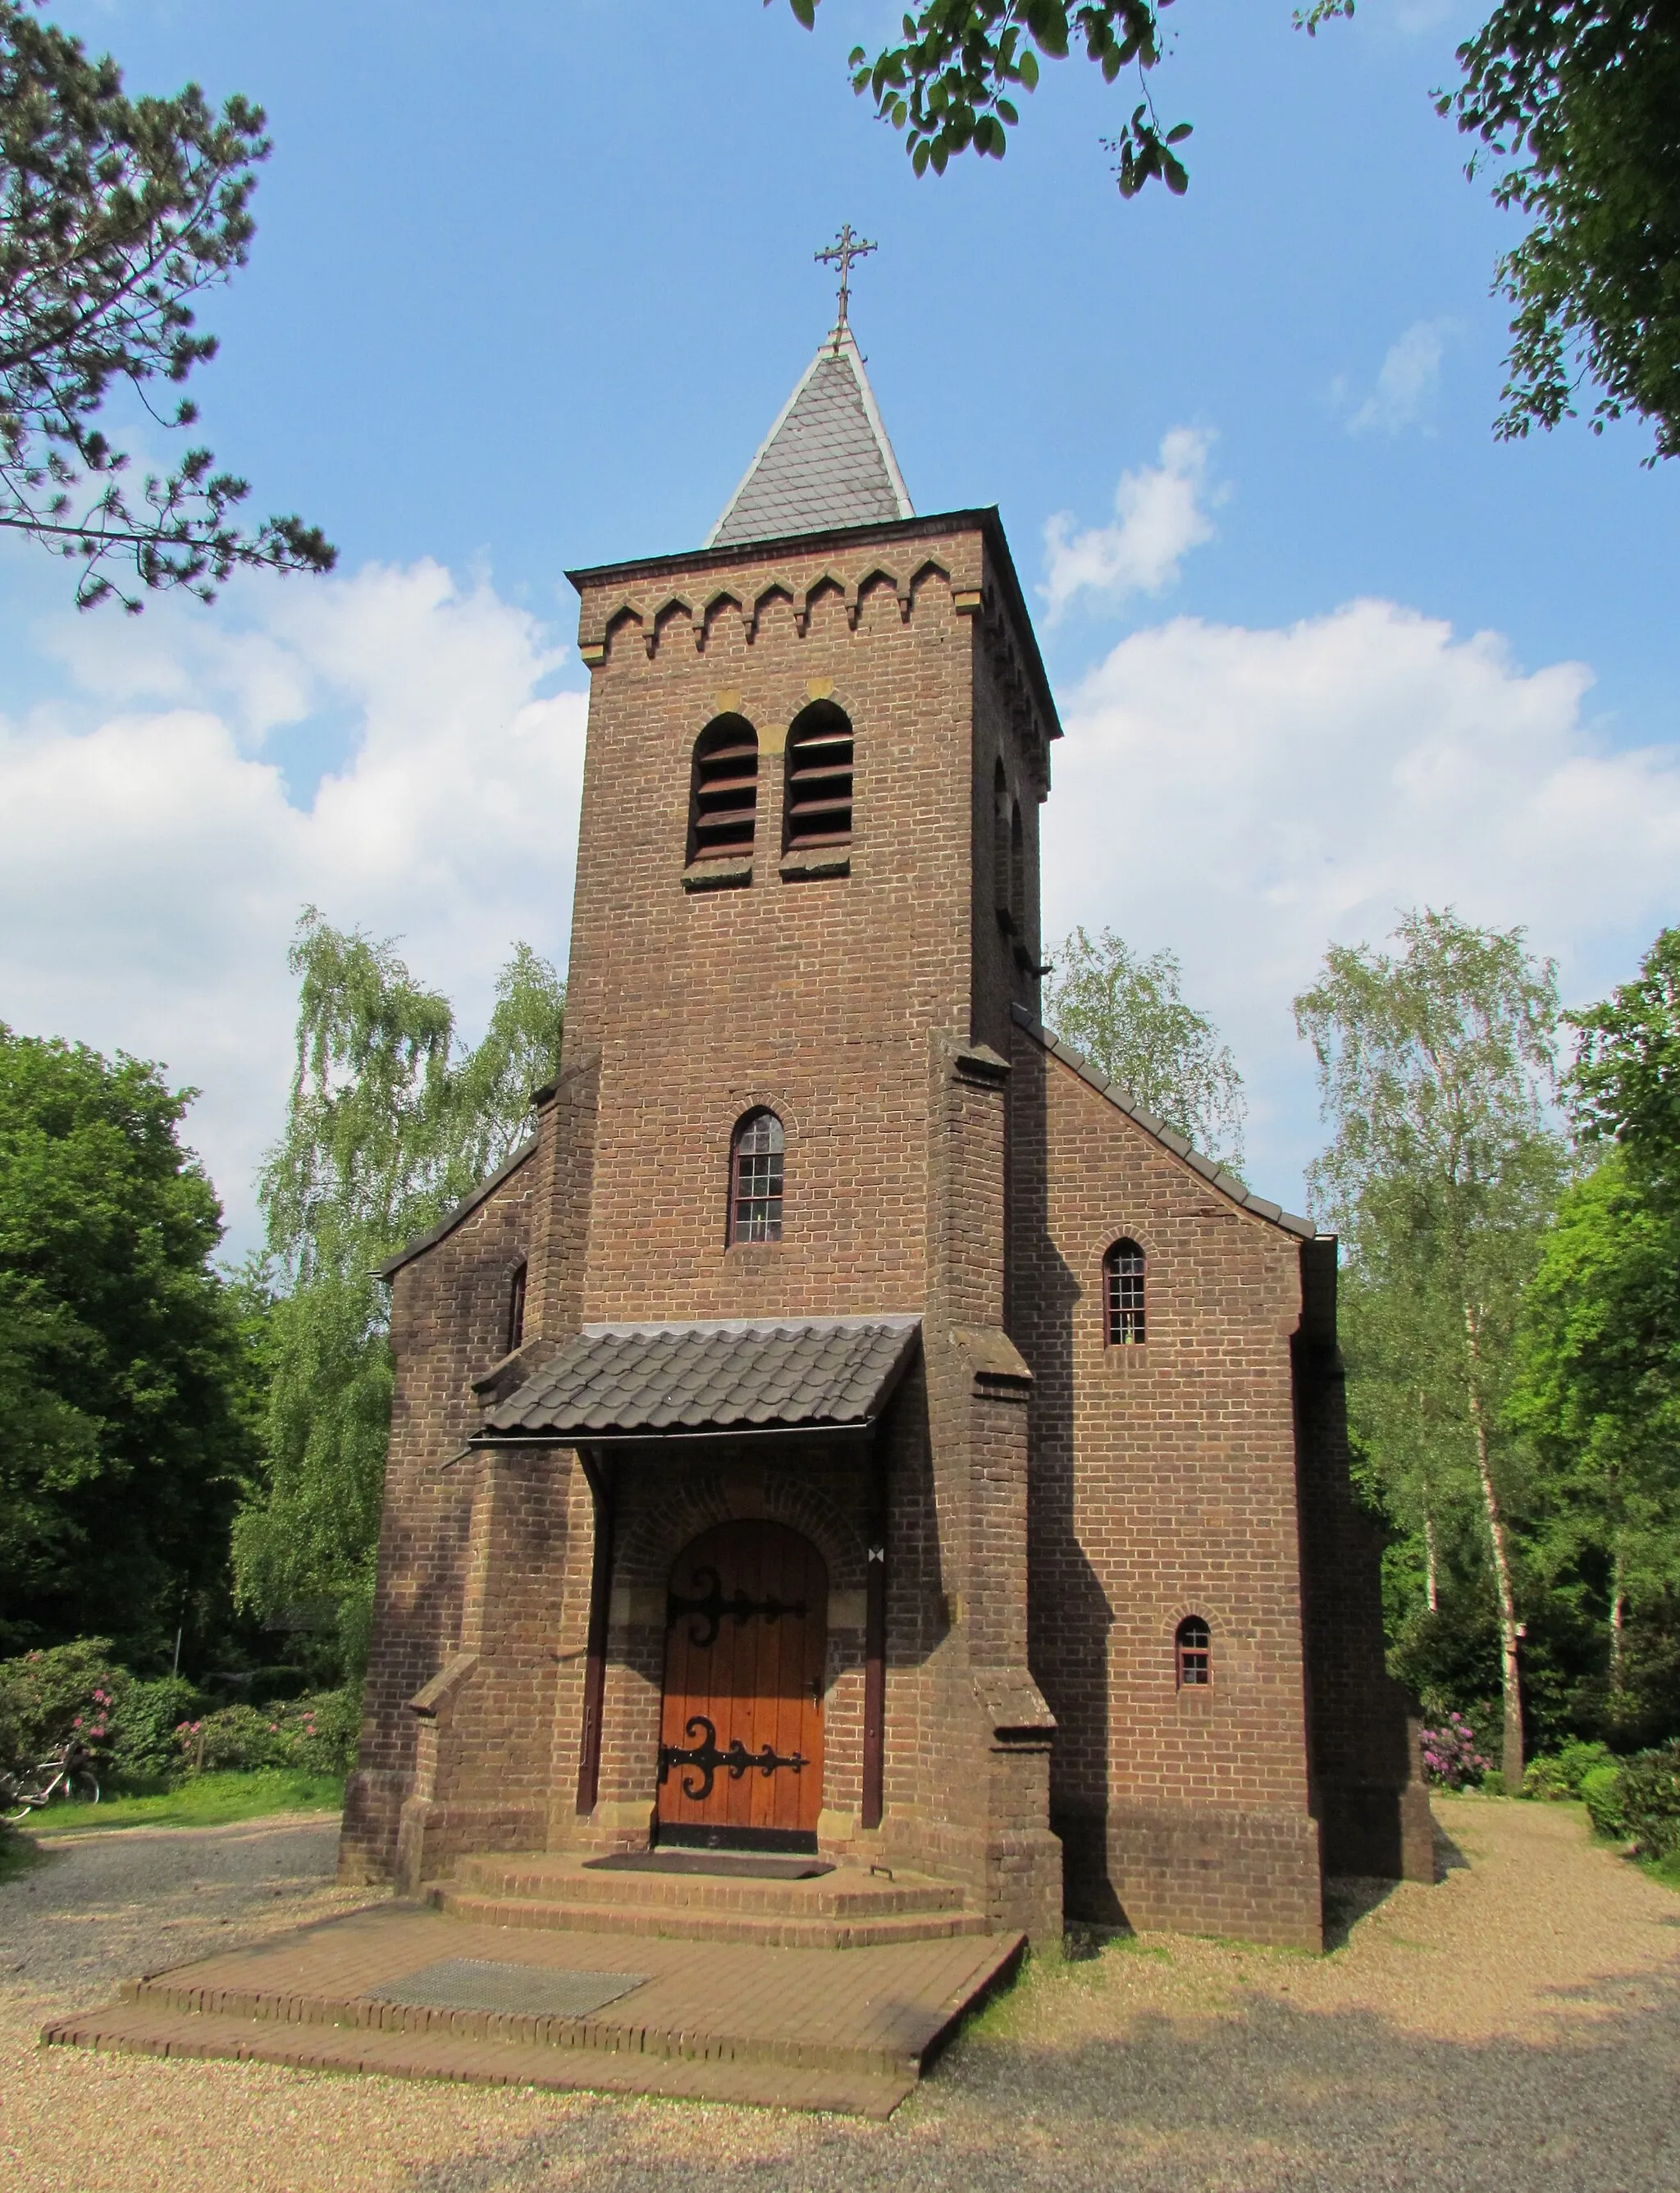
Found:
M 746 478 L 711 529 L 708 548 L 915 518 L 849 322 L 825 338 Z

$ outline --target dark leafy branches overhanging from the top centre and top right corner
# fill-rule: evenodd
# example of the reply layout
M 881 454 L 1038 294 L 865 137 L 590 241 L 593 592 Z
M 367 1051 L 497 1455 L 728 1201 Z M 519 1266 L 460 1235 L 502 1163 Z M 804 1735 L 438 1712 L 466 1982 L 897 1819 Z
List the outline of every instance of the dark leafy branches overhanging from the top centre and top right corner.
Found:
M 770 0 L 765 0 L 765 7 Z M 818 0 L 790 0 L 811 29 Z M 1167 0 L 921 0 L 897 44 L 855 46 L 851 81 L 904 132 L 917 175 L 954 154 L 1000 160 L 1020 121 L 1015 94 L 1040 55 L 1083 46 L 1105 81 L 1136 68 L 1143 92 L 1119 138 L 1123 197 L 1160 178 L 1182 193 L 1189 123 L 1162 127 L 1149 70 L 1165 53 Z M 1316 33 L 1355 0 L 1309 0 L 1296 29 Z M 1496 268 L 1516 307 L 1496 434 L 1573 414 L 1599 384 L 1594 432 L 1638 412 L 1658 456 L 1680 452 L 1680 20 L 1671 0 L 1500 0 L 1458 48 L 1463 81 L 1437 110 L 1480 140 L 1469 173 L 1498 164 L 1494 197 L 1533 226 Z

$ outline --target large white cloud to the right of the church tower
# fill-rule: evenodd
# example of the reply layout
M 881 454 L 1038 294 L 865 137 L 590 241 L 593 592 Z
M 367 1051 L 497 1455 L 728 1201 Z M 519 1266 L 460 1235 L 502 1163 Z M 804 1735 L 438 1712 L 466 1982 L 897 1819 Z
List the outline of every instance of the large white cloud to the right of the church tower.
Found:
M 1279 632 L 1176 618 L 1064 695 L 1046 936 L 1173 945 L 1250 1081 L 1250 1164 L 1298 1193 L 1318 1147 L 1290 998 L 1325 945 L 1454 904 L 1524 923 L 1590 998 L 1676 914 L 1680 748 L 1610 750 L 1592 673 L 1386 601 Z

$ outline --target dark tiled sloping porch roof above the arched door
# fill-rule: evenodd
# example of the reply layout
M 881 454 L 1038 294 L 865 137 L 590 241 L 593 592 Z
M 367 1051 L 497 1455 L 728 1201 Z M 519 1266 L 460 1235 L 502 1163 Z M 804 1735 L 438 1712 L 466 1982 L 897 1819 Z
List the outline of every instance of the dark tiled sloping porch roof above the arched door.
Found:
M 862 1430 L 919 1338 L 912 1316 L 586 1325 L 489 1410 L 476 1443 Z

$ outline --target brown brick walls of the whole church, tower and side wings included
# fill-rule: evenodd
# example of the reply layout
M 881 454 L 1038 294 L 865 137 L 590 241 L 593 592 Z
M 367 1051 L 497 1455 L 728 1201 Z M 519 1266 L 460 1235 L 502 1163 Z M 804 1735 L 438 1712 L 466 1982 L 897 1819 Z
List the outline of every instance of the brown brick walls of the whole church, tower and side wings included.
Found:
M 945 1873 L 1035 1934 L 1059 1928 L 1066 1875 L 1079 1917 L 1318 1941 L 1320 1818 L 1331 1857 L 1415 1853 L 1419 1833 L 1395 1796 L 1406 1746 L 1323 1254 L 1303 1322 L 1296 1237 L 1011 1018 L 1037 996 L 1055 724 L 996 522 L 579 588 L 594 686 L 561 1075 L 537 1151 L 397 1276 L 347 1871 L 388 1871 L 399 1838 L 415 1879 L 474 1847 L 645 1840 L 671 1564 L 719 1520 L 770 1515 L 829 1566 L 825 1849 Z M 811 700 L 853 726 L 853 833 L 783 857 L 783 748 Z M 754 846 L 686 868 L 693 741 L 719 713 L 759 732 Z M 726 1246 L 730 1129 L 754 1105 L 785 1129 L 785 1237 Z M 1121 1235 L 1149 1259 L 1140 1349 L 1103 1342 Z M 529 1338 L 504 1384 L 594 1320 L 921 1316 L 877 1430 L 877 1831 L 860 1827 L 869 1458 L 849 1441 L 610 1461 L 601 1774 L 577 1814 L 583 1472 L 564 1452 L 443 1467 L 478 1421 L 522 1250 Z M 1204 1691 L 1173 1680 L 1187 1614 L 1213 1632 Z

